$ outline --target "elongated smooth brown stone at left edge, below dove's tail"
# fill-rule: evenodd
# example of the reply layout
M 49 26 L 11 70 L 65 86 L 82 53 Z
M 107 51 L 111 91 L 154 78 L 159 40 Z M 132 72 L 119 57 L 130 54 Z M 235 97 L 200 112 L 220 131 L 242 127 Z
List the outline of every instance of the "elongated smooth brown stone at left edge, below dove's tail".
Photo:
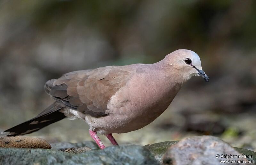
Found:
M 42 138 L 32 138 L 24 136 L 1 137 L 0 147 L 9 148 L 45 148 L 50 149 L 51 145 Z

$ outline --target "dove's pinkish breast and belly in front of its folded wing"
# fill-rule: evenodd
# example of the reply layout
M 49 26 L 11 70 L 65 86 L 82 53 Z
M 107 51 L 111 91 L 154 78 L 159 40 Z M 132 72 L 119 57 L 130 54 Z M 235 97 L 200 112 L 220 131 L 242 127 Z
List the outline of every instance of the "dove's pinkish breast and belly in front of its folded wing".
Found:
M 140 129 L 161 115 L 172 102 L 180 86 L 150 82 L 147 78 L 132 79 L 108 102 L 109 118 L 115 132 Z

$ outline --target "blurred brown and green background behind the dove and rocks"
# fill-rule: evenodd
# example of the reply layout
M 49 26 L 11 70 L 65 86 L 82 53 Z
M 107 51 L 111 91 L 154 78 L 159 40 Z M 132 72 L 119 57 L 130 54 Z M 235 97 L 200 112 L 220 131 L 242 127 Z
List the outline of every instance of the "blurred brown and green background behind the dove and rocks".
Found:
M 153 123 L 114 137 L 119 144 L 146 145 L 213 135 L 255 151 L 255 29 L 254 0 L 2 0 L 0 131 L 53 102 L 43 89 L 48 79 L 106 65 L 151 64 L 191 49 L 209 83 L 193 77 Z M 86 123 L 68 119 L 28 136 L 92 140 Z

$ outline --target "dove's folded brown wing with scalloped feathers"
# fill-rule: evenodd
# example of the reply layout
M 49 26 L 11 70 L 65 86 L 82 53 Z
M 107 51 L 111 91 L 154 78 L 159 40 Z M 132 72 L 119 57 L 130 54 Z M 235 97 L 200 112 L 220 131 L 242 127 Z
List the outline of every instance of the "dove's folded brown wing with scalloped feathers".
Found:
M 125 86 L 131 73 L 121 66 L 74 71 L 46 82 L 45 91 L 67 107 L 93 117 L 107 115 L 108 100 Z

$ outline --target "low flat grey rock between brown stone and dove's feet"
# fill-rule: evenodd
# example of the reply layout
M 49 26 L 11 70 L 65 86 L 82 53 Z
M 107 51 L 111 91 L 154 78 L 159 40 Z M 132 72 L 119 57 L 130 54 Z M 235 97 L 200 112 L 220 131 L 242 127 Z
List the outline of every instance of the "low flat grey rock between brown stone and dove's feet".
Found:
M 52 149 L 60 150 L 65 148 L 80 148 L 80 147 L 90 147 L 92 149 L 99 149 L 96 143 L 92 141 L 84 141 L 81 143 L 70 143 L 70 142 L 56 142 L 51 143 Z

